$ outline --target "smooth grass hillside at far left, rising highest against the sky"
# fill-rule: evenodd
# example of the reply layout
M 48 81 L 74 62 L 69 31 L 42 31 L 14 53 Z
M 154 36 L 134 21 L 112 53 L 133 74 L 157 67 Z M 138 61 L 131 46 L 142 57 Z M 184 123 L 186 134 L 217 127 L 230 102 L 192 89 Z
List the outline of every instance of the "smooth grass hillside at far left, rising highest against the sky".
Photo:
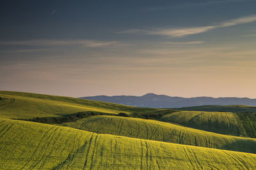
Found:
M 24 92 L 0 91 L 0 97 L 2 98 L 0 100 L 0 118 L 52 117 L 78 111 L 104 113 L 157 111 L 152 108 L 136 108 L 121 104 Z

